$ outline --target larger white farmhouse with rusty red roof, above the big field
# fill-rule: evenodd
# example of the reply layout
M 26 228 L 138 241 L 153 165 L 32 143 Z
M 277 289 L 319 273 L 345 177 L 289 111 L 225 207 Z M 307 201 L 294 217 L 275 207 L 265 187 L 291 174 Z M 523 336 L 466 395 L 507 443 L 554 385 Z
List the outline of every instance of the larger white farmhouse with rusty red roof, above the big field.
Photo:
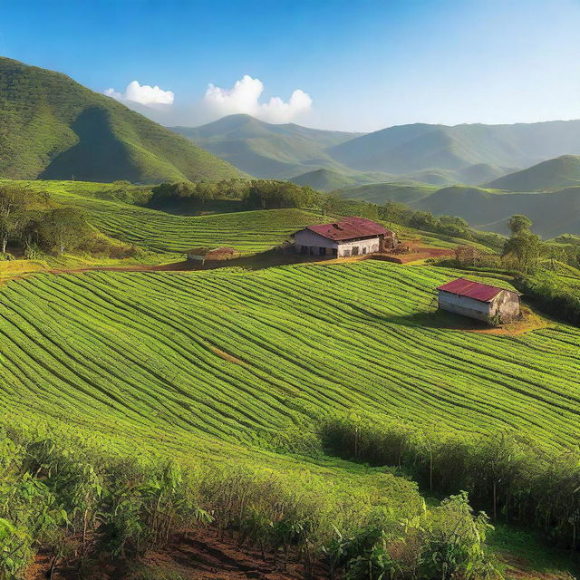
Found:
M 384 252 L 400 244 L 394 232 L 365 218 L 308 226 L 295 233 L 294 241 L 299 254 L 333 257 Z

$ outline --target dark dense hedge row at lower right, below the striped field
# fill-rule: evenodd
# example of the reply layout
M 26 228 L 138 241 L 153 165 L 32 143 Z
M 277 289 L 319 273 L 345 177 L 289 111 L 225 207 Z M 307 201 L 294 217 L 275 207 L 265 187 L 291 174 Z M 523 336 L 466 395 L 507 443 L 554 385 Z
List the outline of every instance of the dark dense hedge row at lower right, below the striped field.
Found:
M 323 421 L 326 449 L 344 459 L 394 466 L 442 495 L 466 490 L 492 521 L 541 529 L 578 549 L 580 453 L 545 449 L 512 431 L 462 435 L 355 414 Z

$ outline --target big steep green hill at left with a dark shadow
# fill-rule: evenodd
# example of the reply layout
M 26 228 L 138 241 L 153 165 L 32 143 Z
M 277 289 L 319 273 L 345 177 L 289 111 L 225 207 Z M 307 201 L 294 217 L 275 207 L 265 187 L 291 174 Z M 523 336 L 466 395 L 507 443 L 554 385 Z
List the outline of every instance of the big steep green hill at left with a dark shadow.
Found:
M 0 176 L 227 179 L 227 161 L 61 73 L 0 57 Z

